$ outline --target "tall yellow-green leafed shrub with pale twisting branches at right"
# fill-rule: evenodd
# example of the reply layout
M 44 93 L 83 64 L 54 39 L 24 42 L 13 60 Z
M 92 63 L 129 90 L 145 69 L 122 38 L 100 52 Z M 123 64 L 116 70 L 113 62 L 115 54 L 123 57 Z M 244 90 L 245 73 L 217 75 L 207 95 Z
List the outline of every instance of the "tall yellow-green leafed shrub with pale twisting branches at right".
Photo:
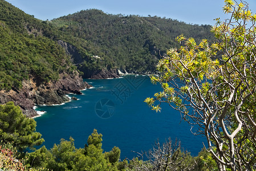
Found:
M 176 38 L 182 46 L 168 50 L 157 64 L 161 74 L 151 77 L 162 91 L 145 102 L 156 111 L 161 103 L 168 103 L 189 124 L 198 126 L 196 134 L 206 137 L 212 154 L 201 158 L 205 164 L 214 165 L 214 160 L 219 170 L 252 170 L 256 167 L 256 155 L 250 155 L 256 151 L 256 14 L 246 2 L 232 0 L 225 0 L 224 12 L 230 19 L 216 19 L 214 42 Z

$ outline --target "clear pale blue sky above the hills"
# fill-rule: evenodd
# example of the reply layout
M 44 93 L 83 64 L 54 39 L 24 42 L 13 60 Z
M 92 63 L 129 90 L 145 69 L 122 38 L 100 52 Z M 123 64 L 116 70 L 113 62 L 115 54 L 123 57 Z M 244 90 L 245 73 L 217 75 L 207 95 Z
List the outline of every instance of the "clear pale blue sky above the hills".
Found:
M 214 25 L 213 19 L 227 18 L 227 15 L 222 13 L 224 0 L 7 0 L 7 2 L 42 20 L 51 20 L 86 9 L 143 17 L 157 15 L 198 25 Z M 256 1 L 247 0 L 247 2 L 252 12 L 256 13 Z

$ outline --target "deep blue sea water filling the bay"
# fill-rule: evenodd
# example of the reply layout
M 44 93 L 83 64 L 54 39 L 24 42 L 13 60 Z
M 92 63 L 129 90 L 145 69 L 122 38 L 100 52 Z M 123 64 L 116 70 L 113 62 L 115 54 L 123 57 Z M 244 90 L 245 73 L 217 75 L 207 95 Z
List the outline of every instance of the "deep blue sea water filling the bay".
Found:
M 118 146 L 122 160 L 137 156 L 135 152 L 152 149 L 157 139 L 178 139 L 193 156 L 202 149 L 202 142 L 206 144 L 205 137 L 194 136 L 190 125 L 181 121 L 179 112 L 165 104 L 156 113 L 143 102 L 161 91 L 148 76 L 85 81 L 93 87 L 82 91 L 83 95 L 69 95 L 79 100 L 36 108 L 46 111 L 35 121 L 36 131 L 42 134 L 47 149 L 70 137 L 75 139 L 76 148 L 83 148 L 94 129 L 103 135 L 104 152 Z

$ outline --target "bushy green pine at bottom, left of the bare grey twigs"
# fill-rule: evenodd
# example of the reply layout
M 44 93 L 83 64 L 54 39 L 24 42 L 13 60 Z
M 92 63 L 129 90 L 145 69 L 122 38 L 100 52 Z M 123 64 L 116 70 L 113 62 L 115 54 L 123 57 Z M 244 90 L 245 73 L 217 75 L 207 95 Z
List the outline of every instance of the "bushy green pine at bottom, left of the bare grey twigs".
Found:
M 74 139 L 60 140 L 51 150 L 45 146 L 30 153 L 27 161 L 29 168 L 42 170 L 120 170 L 124 168 L 118 163 L 120 149 L 114 147 L 111 152 L 103 153 L 101 149 L 102 135 L 96 129 L 88 137 L 88 145 L 84 149 L 76 149 Z

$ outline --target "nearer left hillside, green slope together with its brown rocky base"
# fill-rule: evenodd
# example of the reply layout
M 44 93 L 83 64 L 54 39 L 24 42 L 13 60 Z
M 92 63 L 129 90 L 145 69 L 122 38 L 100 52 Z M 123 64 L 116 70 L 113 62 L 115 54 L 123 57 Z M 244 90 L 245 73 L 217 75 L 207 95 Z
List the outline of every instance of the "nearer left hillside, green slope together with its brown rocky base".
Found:
M 56 30 L 0 0 L 0 104 L 14 101 L 28 117 L 35 104 L 61 104 L 65 93 L 88 86 L 70 55 L 51 37 Z

